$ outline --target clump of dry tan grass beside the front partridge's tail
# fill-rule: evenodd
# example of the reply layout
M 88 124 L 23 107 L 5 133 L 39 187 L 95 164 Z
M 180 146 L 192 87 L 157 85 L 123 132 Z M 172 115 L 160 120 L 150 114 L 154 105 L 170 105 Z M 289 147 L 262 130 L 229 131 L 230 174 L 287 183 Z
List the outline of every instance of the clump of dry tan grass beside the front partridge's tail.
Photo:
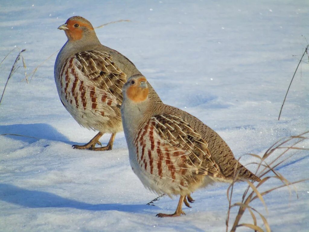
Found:
M 228 212 L 227 212 L 227 216 L 226 216 L 226 232 L 228 231 L 231 208 L 233 208 L 233 207 L 239 207 L 239 210 L 238 210 L 237 216 L 234 220 L 232 229 L 230 230 L 231 232 L 234 232 L 238 227 L 248 227 L 248 228 L 250 228 L 254 231 L 259 231 L 259 232 L 264 232 L 264 231 L 270 232 L 271 231 L 269 223 L 266 220 L 266 218 L 260 212 L 258 212 L 255 208 L 250 206 L 250 203 L 252 203 L 252 201 L 254 201 L 256 199 L 259 199 L 263 203 L 263 205 L 265 207 L 265 211 L 267 213 L 268 212 L 267 206 L 266 206 L 265 201 L 263 199 L 264 195 L 266 195 L 266 194 L 268 194 L 268 193 L 270 193 L 270 192 L 272 192 L 276 189 L 279 189 L 279 188 L 282 188 L 282 187 L 290 187 L 291 185 L 293 186 L 293 184 L 295 184 L 295 183 L 299 183 L 299 182 L 303 182 L 305 180 L 308 180 L 308 179 L 302 179 L 302 180 L 298 180 L 298 181 L 295 181 L 295 182 L 290 182 L 283 175 L 281 175 L 277 170 L 275 170 L 275 168 L 278 167 L 278 165 L 282 164 L 284 161 L 286 161 L 287 159 L 289 159 L 291 156 L 293 156 L 295 154 L 295 153 L 293 153 L 292 155 L 284 158 L 283 156 L 285 154 L 287 154 L 289 151 L 292 151 L 292 150 L 309 150 L 308 148 L 296 147 L 297 144 L 308 139 L 308 137 L 307 137 L 308 135 L 309 135 L 309 131 L 307 131 L 307 132 L 305 132 L 301 135 L 291 136 L 290 138 L 288 138 L 286 140 L 280 140 L 277 143 L 273 144 L 273 146 L 271 146 L 264 153 L 264 155 L 262 157 L 259 157 L 259 156 L 254 155 L 254 154 L 249 154 L 253 157 L 260 159 L 260 162 L 258 162 L 258 163 L 252 162 L 250 164 L 258 165 L 258 168 L 256 170 L 256 175 L 261 179 L 261 181 L 258 182 L 257 184 L 255 184 L 253 181 L 244 180 L 248 183 L 248 187 L 246 188 L 246 190 L 243 193 L 242 201 L 232 204 L 232 195 L 233 195 L 234 184 L 235 184 L 235 182 L 240 180 L 238 178 L 239 173 L 236 172 L 237 167 L 235 167 L 235 174 L 234 174 L 233 182 L 231 183 L 231 185 L 227 189 L 227 199 L 228 199 L 228 202 L 229 202 L 229 208 L 228 208 Z M 273 154 L 278 149 L 283 149 L 283 151 L 278 156 L 275 156 L 273 158 L 273 160 L 270 161 L 269 163 L 266 162 L 266 159 L 269 158 L 270 155 Z M 282 159 L 282 160 L 280 160 L 280 159 Z M 265 176 L 268 173 L 271 173 L 273 175 Z M 283 184 L 280 185 L 280 186 L 276 186 L 276 187 L 273 187 L 271 189 L 268 189 L 266 191 L 265 190 L 264 191 L 258 190 L 258 188 L 263 186 L 263 184 L 266 181 L 268 181 L 269 179 L 274 179 L 274 178 L 280 180 Z M 294 190 L 296 192 L 295 187 L 294 187 Z M 289 191 L 290 191 L 290 188 L 289 188 Z M 290 193 L 291 193 L 291 191 L 290 191 Z M 252 217 L 253 224 L 250 224 L 250 223 L 239 224 L 239 221 L 242 218 L 246 209 L 248 209 L 248 211 L 249 211 L 249 213 Z M 264 226 L 265 226 L 265 230 L 263 230 L 261 228 L 261 226 L 257 225 L 256 214 L 262 219 Z

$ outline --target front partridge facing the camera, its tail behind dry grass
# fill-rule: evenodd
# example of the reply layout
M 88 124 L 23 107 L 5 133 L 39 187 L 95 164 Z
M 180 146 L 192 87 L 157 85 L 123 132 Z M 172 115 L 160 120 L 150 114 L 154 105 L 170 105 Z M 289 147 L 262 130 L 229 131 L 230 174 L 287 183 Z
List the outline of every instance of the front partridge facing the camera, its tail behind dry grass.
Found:
M 153 101 L 141 74 L 131 76 L 122 88 L 121 117 L 133 172 L 157 194 L 180 195 L 175 213 L 190 193 L 214 182 L 260 181 L 241 165 L 226 142 L 198 118 L 176 107 Z M 191 201 L 190 201 L 191 202 Z M 187 205 L 188 206 L 188 205 Z

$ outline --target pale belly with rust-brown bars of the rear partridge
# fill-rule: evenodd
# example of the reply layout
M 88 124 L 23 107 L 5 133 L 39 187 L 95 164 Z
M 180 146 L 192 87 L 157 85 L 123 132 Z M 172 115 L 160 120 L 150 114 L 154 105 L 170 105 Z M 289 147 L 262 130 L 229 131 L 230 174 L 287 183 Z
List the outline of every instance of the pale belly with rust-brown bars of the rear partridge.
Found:
M 58 74 L 55 81 L 60 100 L 81 126 L 103 133 L 123 130 L 118 103 L 112 96 L 81 80 L 69 66 L 64 66 Z

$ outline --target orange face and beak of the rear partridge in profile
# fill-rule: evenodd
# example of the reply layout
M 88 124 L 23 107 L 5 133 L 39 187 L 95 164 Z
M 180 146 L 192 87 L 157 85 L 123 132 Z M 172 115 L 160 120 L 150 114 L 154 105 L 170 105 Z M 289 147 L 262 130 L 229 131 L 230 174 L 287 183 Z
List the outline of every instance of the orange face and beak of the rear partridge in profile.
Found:
M 84 30 L 94 30 L 91 24 L 71 18 L 65 24 L 59 26 L 58 29 L 64 30 L 70 41 L 80 40 L 83 37 Z

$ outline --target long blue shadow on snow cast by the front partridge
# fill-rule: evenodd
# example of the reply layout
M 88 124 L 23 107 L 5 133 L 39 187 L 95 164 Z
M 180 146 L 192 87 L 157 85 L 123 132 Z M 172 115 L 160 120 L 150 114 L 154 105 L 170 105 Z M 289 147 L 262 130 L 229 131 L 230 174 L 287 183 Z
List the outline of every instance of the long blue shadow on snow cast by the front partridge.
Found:
M 146 204 L 89 204 L 49 192 L 28 190 L 2 183 L 0 183 L 0 200 L 27 208 L 75 208 L 91 211 L 116 210 L 133 213 L 149 209 Z

